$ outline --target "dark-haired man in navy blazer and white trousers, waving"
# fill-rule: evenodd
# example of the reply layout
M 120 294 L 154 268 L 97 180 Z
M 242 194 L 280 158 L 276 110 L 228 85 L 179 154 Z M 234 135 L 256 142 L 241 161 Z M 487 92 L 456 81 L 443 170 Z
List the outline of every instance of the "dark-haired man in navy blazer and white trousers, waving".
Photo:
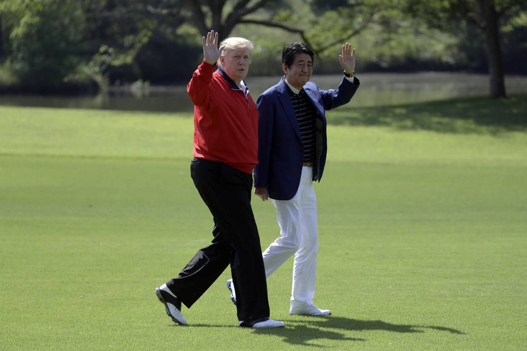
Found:
M 348 103 L 360 83 L 354 77 L 355 49 L 350 44 L 343 45 L 339 55 L 344 77 L 336 90 L 321 90 L 309 82 L 314 56 L 305 44 L 286 45 L 284 77 L 259 96 L 254 176 L 255 194 L 264 201 L 271 198 L 280 226 L 280 237 L 262 254 L 266 276 L 295 255 L 289 314 L 319 316 L 331 314 L 313 304 L 318 251 L 313 182 L 320 181 L 326 163 L 325 111 Z M 229 283 L 235 302 L 236 292 Z

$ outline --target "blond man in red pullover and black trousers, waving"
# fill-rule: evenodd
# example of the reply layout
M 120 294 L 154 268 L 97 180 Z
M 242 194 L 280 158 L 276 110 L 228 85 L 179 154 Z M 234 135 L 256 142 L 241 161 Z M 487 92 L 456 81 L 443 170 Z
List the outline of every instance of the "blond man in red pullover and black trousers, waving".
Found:
M 187 324 L 181 303 L 190 308 L 230 264 L 239 326 L 283 327 L 269 318 L 264 261 L 250 203 L 252 169 L 258 163 L 258 109 L 243 78 L 253 45 L 244 38 L 227 38 L 218 49 L 214 31 L 202 41 L 204 59 L 187 86 L 194 103 L 190 172 L 214 219 L 214 238 L 155 293 L 175 323 Z

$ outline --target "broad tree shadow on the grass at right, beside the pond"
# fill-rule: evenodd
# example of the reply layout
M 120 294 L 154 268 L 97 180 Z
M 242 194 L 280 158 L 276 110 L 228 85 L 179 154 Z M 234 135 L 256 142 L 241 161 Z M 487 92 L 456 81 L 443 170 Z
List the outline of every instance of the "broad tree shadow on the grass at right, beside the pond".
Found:
M 499 134 L 527 132 L 527 94 L 504 99 L 456 98 L 378 107 L 341 106 L 327 113 L 328 124 L 387 126 L 441 133 Z

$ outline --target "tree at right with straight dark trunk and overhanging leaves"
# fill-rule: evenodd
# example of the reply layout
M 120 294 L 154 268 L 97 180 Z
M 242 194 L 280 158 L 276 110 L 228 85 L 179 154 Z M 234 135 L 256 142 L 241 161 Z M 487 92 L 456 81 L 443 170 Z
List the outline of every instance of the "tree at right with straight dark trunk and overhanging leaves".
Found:
M 484 37 L 490 96 L 506 96 L 500 19 L 527 9 L 525 0 L 409 0 L 407 9 L 414 16 L 424 18 L 431 26 L 444 31 L 452 31 L 460 23 L 475 26 Z

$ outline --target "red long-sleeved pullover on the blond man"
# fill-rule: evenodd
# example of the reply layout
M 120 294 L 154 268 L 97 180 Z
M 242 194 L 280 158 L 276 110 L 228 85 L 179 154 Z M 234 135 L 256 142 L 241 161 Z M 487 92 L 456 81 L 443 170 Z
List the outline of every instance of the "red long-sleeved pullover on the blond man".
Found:
M 258 108 L 216 64 L 203 60 L 187 85 L 194 103 L 194 157 L 252 174 L 258 164 Z

